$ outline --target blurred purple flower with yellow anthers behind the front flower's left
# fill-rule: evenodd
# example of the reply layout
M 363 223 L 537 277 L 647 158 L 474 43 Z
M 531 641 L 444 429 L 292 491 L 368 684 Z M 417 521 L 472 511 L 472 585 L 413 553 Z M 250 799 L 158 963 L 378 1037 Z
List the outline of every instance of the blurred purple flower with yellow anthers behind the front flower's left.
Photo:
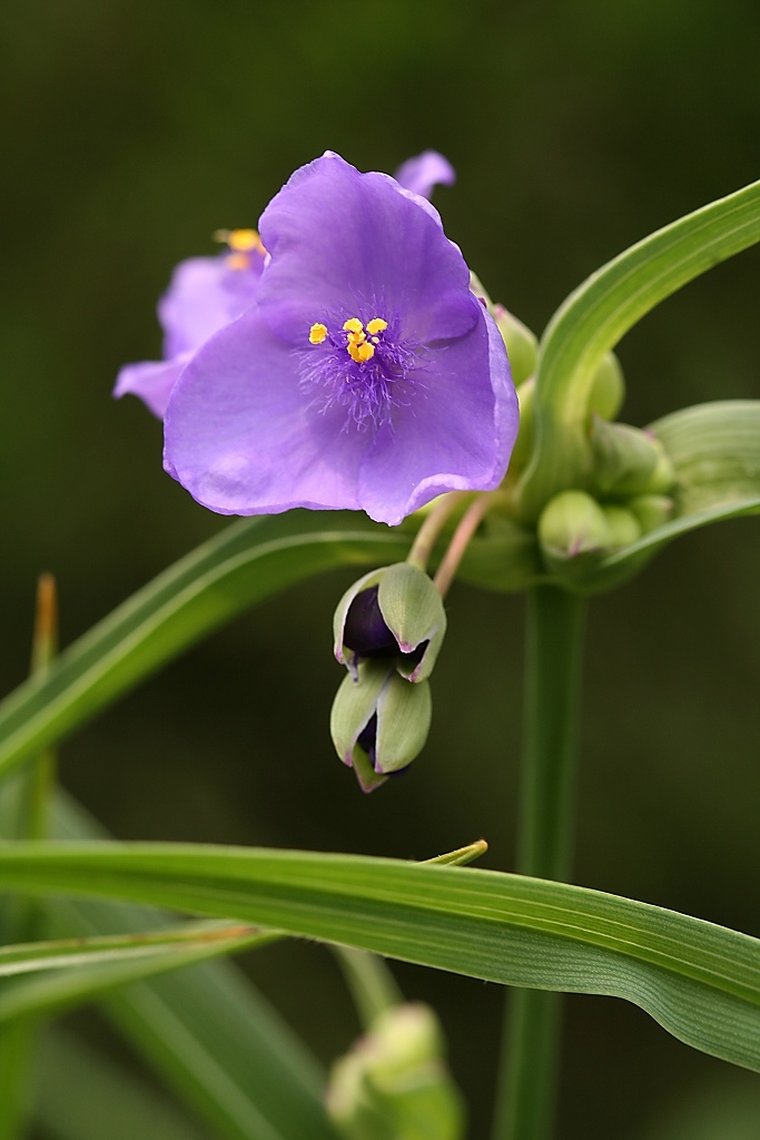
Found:
M 221 231 L 228 249 L 214 258 L 189 258 L 175 268 L 158 302 L 164 329 L 164 359 L 128 364 L 119 373 L 114 396 L 139 396 L 163 418 L 182 368 L 219 328 L 239 317 L 255 296 L 265 250 L 253 229 Z

